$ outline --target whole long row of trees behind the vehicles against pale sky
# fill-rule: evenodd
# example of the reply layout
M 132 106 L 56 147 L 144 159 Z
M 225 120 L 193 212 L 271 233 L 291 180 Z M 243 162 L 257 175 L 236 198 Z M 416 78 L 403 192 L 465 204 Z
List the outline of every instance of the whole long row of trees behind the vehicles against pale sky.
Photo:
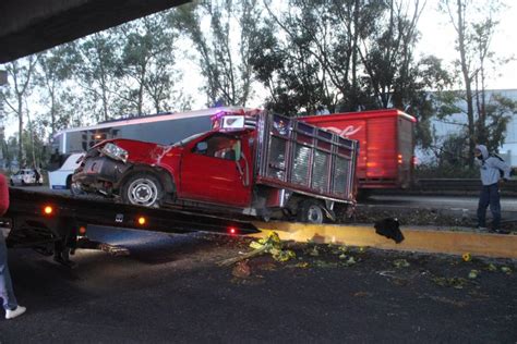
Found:
M 436 158 L 418 173 L 470 175 L 464 165 L 472 161 L 472 144 L 500 147 L 517 106 L 485 91 L 485 76 L 498 61 L 490 49 L 496 1 L 481 12 L 473 1 L 441 3 L 460 24 L 455 27 L 464 57 L 458 54 L 454 71 L 436 57 L 416 56 L 423 11 L 418 1 L 200 0 L 91 35 L 40 53 L 37 69 L 36 58 L 8 65 L 16 79 L 4 95 L 7 109 L 24 137 L 14 142 L 17 149 L 5 148 L 13 142 L 4 149 L 22 161 L 37 160 L 33 151 L 43 150 L 32 143 L 45 143 L 28 140 L 28 132 L 44 140 L 52 132 L 123 113 L 189 109 L 192 96 L 183 91 L 189 79 L 175 66 L 179 47 L 200 63 L 209 106 L 245 106 L 256 82 L 268 91 L 265 107 L 288 115 L 395 107 L 418 119 L 417 144 Z M 458 9 L 469 14 L 461 22 Z M 34 86 L 45 109 L 37 121 L 25 108 Z M 445 122 L 462 116 L 458 133 L 435 137 L 433 116 Z

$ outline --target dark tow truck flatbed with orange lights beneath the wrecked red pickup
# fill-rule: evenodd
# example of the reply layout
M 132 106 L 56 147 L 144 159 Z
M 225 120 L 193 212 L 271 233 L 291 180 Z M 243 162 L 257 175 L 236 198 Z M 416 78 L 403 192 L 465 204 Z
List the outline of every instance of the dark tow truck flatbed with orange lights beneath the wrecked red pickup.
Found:
M 10 230 L 9 247 L 34 248 L 55 260 L 73 266 L 70 255 L 77 248 L 101 249 L 113 255 L 127 249 L 91 241 L 88 226 L 99 225 L 163 233 L 195 231 L 230 235 L 257 233 L 245 220 L 170 208 L 146 208 L 67 194 L 10 188 L 10 207 L 0 226 Z M 1 235 L 1 233 L 0 233 Z

